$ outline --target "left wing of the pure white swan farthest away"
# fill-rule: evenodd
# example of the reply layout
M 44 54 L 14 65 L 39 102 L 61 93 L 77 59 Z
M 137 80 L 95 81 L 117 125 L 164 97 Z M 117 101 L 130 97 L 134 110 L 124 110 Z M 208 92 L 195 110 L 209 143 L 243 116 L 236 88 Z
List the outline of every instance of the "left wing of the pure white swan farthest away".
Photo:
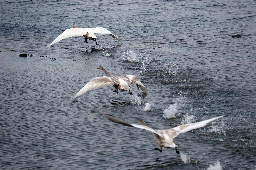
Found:
M 63 31 L 51 44 L 47 45 L 47 47 L 50 47 L 52 44 L 55 44 L 65 38 L 74 37 L 74 36 L 83 36 L 86 35 L 87 31 L 82 30 L 80 28 L 70 28 L 65 31 Z

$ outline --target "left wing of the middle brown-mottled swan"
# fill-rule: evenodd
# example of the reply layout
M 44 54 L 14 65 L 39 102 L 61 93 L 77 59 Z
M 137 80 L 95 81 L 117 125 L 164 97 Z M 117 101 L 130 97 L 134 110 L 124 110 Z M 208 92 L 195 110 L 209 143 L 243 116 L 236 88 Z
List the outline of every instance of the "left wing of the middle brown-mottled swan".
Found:
M 85 85 L 76 95 L 73 96 L 73 98 L 76 98 L 78 96 L 81 96 L 82 94 L 86 93 L 89 90 L 93 90 L 100 87 L 106 87 L 110 85 L 118 84 L 114 82 L 111 77 L 95 77 L 93 78 L 87 85 Z

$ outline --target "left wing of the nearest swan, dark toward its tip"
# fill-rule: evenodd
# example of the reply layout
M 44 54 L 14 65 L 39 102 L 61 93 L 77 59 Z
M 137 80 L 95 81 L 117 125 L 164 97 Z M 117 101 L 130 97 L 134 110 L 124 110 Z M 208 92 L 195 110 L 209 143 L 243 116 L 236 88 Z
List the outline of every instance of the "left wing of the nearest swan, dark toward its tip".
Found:
M 111 116 L 108 116 L 108 115 L 105 115 L 105 114 L 104 114 L 104 117 L 106 117 L 106 119 L 108 119 L 108 120 L 110 120 L 114 123 L 119 123 L 119 124 L 122 124 L 124 126 L 130 126 L 130 127 L 136 127 L 136 128 L 148 130 L 148 131 L 150 131 L 154 134 L 157 134 L 157 135 L 161 136 L 162 138 L 164 138 L 162 134 L 160 134 L 157 130 L 152 129 L 151 127 L 144 126 L 144 125 L 137 125 L 137 124 L 129 124 L 127 122 L 115 119 L 114 117 L 111 117 Z

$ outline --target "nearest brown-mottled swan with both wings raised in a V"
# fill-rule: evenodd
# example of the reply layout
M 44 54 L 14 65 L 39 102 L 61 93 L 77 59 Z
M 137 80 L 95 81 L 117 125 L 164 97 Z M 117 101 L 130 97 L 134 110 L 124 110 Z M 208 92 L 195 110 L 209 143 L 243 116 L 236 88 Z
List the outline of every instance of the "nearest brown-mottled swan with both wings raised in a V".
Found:
M 208 123 L 210 123 L 210 122 L 212 122 L 216 119 L 219 119 L 223 116 L 226 116 L 226 115 L 227 114 L 223 114 L 219 117 L 214 117 L 212 119 L 208 119 L 208 120 L 201 121 L 201 122 L 179 125 L 179 126 L 174 127 L 172 129 L 155 130 L 155 129 L 151 128 L 150 126 L 148 126 L 146 123 L 144 123 L 142 119 L 138 119 L 138 121 L 137 121 L 138 123 L 140 123 L 142 125 L 129 124 L 129 123 L 123 122 L 121 120 L 115 119 L 114 117 L 111 117 L 111 116 L 108 116 L 108 115 L 104 114 L 104 116 L 108 120 L 110 120 L 114 123 L 119 123 L 119 124 L 122 124 L 122 125 L 125 125 L 125 126 L 130 126 L 130 127 L 137 127 L 137 128 L 145 129 L 145 130 L 148 130 L 148 131 L 152 132 L 152 134 L 154 135 L 154 137 L 156 139 L 156 143 L 159 146 L 159 148 L 155 148 L 155 150 L 158 150 L 158 151 L 162 152 L 162 147 L 175 148 L 176 153 L 178 153 L 178 154 L 180 153 L 177 150 L 178 145 L 176 145 L 175 141 L 173 140 L 175 137 L 177 137 L 181 133 L 185 133 L 185 132 L 188 132 L 188 131 L 193 130 L 193 129 L 204 127 Z

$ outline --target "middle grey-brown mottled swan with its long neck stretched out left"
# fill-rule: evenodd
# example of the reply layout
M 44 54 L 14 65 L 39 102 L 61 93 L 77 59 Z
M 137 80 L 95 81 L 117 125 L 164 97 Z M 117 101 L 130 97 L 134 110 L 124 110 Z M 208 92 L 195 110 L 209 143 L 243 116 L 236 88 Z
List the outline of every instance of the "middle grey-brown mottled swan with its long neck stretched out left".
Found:
M 129 83 L 136 84 L 138 90 L 141 89 L 147 92 L 147 88 L 141 83 L 141 81 L 135 75 L 112 76 L 102 66 L 97 67 L 97 69 L 102 70 L 104 73 L 106 73 L 106 75 L 108 75 L 108 77 L 103 76 L 103 77 L 93 78 L 76 95 L 74 95 L 73 98 L 81 96 L 82 94 L 86 93 L 89 90 L 93 90 L 99 87 L 110 86 L 110 85 L 113 85 L 115 87 L 115 90 L 113 92 L 116 92 L 117 94 L 118 94 L 118 90 L 122 90 L 122 91 L 130 90 L 130 94 L 132 94 Z

